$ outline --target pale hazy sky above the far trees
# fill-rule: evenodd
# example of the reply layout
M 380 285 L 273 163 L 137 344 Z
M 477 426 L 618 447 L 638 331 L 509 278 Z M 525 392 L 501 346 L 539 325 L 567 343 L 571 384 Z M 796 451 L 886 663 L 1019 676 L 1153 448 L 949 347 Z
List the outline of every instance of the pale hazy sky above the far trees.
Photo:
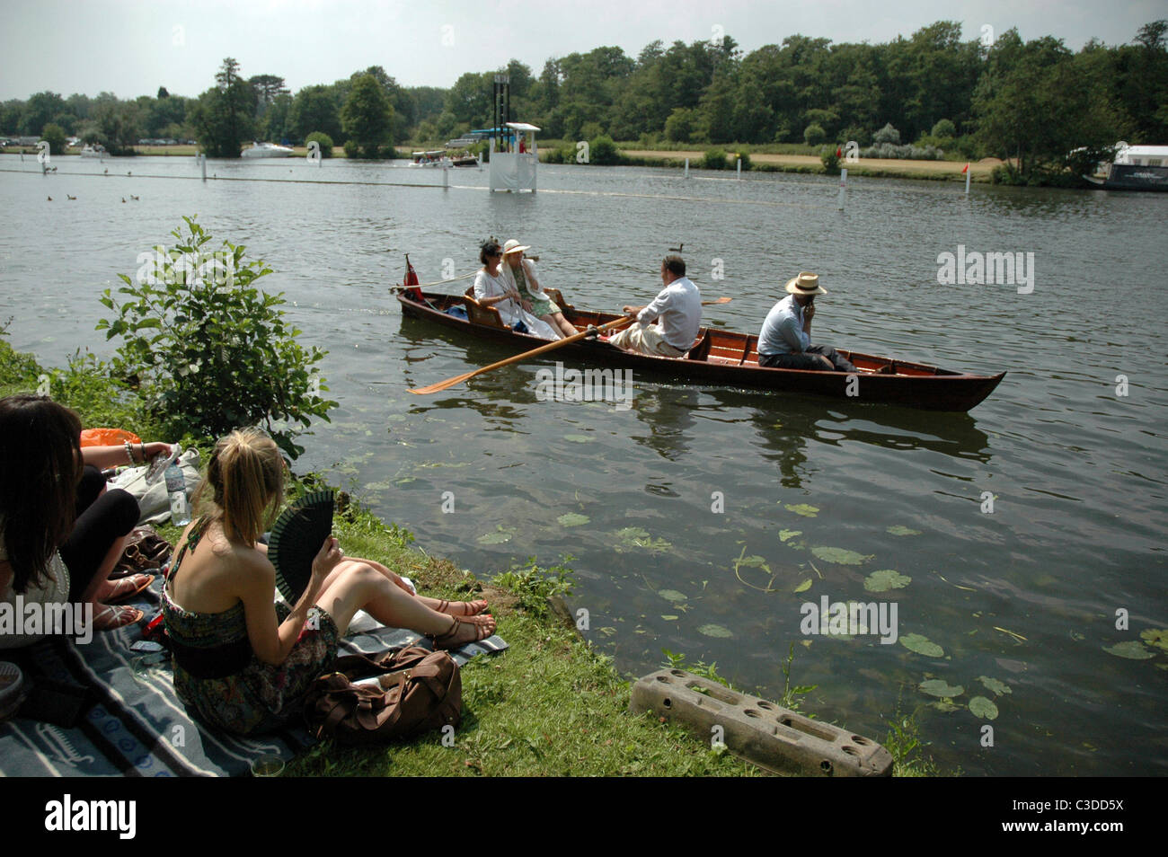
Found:
M 406 86 L 450 86 L 512 57 L 538 74 L 572 51 L 619 46 L 635 58 L 656 39 L 718 33 L 744 53 L 795 33 L 875 44 L 938 20 L 960 21 L 966 40 L 987 25 L 1017 27 L 1026 40 L 1054 35 L 1078 50 L 1092 36 L 1129 42 L 1161 18 L 1168 0 L 0 0 L 0 98 L 133 98 L 160 85 L 195 96 L 225 56 L 246 77 L 284 77 L 293 92 L 369 65 Z

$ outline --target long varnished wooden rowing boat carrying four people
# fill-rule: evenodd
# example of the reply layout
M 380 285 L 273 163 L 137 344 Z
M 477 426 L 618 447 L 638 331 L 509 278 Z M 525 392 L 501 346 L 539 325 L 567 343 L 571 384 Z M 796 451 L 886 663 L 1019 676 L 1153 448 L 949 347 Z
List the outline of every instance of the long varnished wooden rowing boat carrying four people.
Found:
M 470 291 L 470 290 L 467 290 Z M 544 290 L 578 330 L 620 318 L 613 313 L 577 309 L 555 288 Z M 420 299 L 419 299 L 420 297 Z M 397 293 L 402 313 L 507 346 L 512 353 L 530 350 L 547 340 L 515 333 L 494 307 L 484 307 L 471 294 L 437 294 L 411 288 Z M 447 311 L 461 307 L 466 319 Z M 1006 372 L 969 375 L 924 363 L 877 357 L 837 349 L 860 371 L 855 375 L 758 365 L 758 336 L 703 327 L 684 357 L 632 354 L 607 342 L 584 340 L 565 346 L 557 358 L 572 358 L 585 367 L 628 368 L 656 377 L 691 384 L 814 393 L 854 402 L 878 402 L 929 411 L 965 412 L 994 391 Z M 885 368 L 889 367 L 889 368 Z M 883 370 L 883 371 L 881 371 Z M 888 372 L 888 374 L 885 374 Z M 855 379 L 853 379 L 855 378 Z

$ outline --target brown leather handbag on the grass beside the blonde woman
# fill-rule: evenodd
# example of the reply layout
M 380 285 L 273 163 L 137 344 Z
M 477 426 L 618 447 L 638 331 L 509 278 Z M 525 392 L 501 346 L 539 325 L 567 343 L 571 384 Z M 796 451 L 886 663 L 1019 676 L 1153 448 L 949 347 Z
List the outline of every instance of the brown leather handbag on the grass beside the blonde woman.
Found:
M 376 682 L 355 684 L 360 676 Z M 317 738 L 338 744 L 385 744 L 458 725 L 463 676 L 446 652 L 411 646 L 380 659 L 345 655 L 320 676 L 304 702 L 304 718 Z

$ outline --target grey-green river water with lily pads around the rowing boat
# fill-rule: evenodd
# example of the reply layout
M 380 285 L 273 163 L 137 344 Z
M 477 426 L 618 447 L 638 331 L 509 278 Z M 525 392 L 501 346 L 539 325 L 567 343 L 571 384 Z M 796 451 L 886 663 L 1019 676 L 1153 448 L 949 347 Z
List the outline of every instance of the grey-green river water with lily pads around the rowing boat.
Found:
M 822 176 L 548 165 L 516 195 L 388 163 L 211 161 L 206 183 L 186 158 L 53 163 L 0 160 L 14 347 L 109 356 L 99 292 L 197 214 L 329 350 L 340 407 L 298 469 L 480 574 L 571 555 L 570 606 L 624 671 L 669 649 L 773 697 L 794 643 L 805 711 L 877 739 L 915 712 L 950 769 L 1168 772 L 1164 195 L 851 179 L 840 211 Z M 408 393 L 506 356 L 404 320 L 388 291 L 404 252 L 439 280 L 491 235 L 603 309 L 647 302 L 683 242 L 703 297 L 734 298 L 707 322 L 750 333 L 816 271 L 815 341 L 1008 375 L 969 414 L 641 377 L 627 409 L 540 400 L 550 363 Z M 959 252 L 1022 253 L 1033 278 L 939 284 Z M 804 633 L 825 597 L 895 607 L 897 640 Z

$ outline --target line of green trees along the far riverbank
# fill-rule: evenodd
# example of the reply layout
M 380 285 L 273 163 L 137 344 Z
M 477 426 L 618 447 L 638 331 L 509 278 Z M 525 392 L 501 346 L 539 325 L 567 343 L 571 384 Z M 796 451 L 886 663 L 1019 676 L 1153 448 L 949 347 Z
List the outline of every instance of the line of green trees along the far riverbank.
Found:
M 959 22 L 938 21 L 882 44 L 792 35 L 743 54 L 724 35 L 655 41 L 635 58 L 599 47 L 549 58 L 538 75 L 516 60 L 506 70 L 513 118 L 555 139 L 867 147 L 888 145 L 892 126 L 905 144 L 1011 159 L 1026 180 L 1068 166 L 1075 149 L 1093 156 L 1120 139 L 1168 142 L 1166 35 L 1159 20 L 1128 44 L 1092 40 L 1076 53 L 1051 36 L 1023 41 L 1016 29 L 962 41 Z M 319 133 L 376 156 L 394 142 L 440 142 L 489 125 L 498 71 L 466 72 L 450 89 L 404 88 L 373 67 L 293 96 L 284 78 L 244 78 L 229 58 L 197 98 L 39 92 L 0 105 L 0 132 L 35 134 L 53 123 L 111 151 L 140 135 L 188 135 L 224 156 L 237 154 L 234 140 L 299 144 Z

